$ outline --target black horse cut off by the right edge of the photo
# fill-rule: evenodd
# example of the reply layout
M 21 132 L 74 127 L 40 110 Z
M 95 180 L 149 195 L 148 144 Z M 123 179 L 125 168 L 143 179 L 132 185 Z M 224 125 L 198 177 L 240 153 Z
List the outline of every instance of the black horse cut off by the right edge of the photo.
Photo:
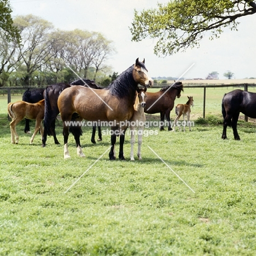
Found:
M 239 140 L 237 132 L 237 120 L 240 112 L 249 118 L 256 118 L 256 93 L 243 90 L 234 90 L 224 94 L 222 99 L 223 133 L 222 138 L 226 139 L 226 127 L 231 126 L 234 138 Z

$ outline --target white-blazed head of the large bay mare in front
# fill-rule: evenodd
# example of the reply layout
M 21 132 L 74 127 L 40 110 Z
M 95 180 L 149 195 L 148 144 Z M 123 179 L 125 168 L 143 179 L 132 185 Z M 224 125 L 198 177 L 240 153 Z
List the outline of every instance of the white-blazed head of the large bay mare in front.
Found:
M 144 87 L 152 87 L 154 82 L 152 78 L 148 75 L 148 69 L 144 65 L 145 59 L 141 62 L 136 60 L 135 65 L 133 66 L 133 79 L 137 84 L 140 84 Z

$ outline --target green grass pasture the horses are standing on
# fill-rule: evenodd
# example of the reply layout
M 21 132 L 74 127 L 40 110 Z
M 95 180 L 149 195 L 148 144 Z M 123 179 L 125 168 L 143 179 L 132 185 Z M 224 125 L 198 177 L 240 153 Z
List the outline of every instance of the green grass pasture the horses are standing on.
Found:
M 40 135 L 30 145 L 25 121 L 17 126 L 19 144 L 11 144 L 7 97 L 0 96 L 0 255 L 255 255 L 255 124 L 241 116 L 241 141 L 231 128 L 221 139 L 220 104 L 230 90 L 207 89 L 203 121 L 203 89 L 185 88 L 175 105 L 193 96 L 195 126 L 191 132 L 145 128 L 158 135 L 143 136 L 142 161 L 129 160 L 130 136 L 126 161 L 109 161 L 109 150 L 102 154 L 110 136 L 92 144 L 91 127 L 81 136 L 86 158 L 77 156 L 69 136 L 71 159 L 64 160 L 61 120 L 61 145 L 49 137 L 42 148 Z

